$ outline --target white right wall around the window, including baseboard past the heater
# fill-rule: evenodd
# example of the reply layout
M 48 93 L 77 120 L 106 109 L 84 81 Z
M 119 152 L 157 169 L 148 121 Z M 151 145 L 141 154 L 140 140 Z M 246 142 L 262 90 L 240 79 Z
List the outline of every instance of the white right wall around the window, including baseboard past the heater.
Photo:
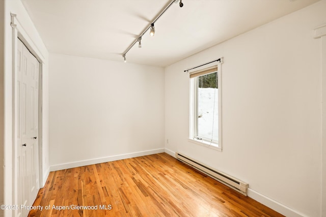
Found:
M 248 182 L 249 196 L 287 216 L 321 216 L 321 46 L 312 29 L 325 11 L 323 0 L 167 67 L 167 152 Z M 187 141 L 183 70 L 222 56 L 220 152 Z

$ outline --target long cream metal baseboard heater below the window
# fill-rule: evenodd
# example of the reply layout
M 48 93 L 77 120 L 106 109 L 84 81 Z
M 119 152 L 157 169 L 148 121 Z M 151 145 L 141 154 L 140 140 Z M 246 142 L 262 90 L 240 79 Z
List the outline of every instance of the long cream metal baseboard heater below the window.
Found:
M 228 187 L 232 188 L 233 190 L 247 196 L 247 189 L 249 185 L 248 183 L 243 182 L 221 171 L 214 170 L 190 157 L 185 156 L 184 154 L 176 152 L 175 156 L 176 159 L 178 159 L 179 161 L 203 172 L 204 174 L 212 177 L 213 179 L 228 185 Z

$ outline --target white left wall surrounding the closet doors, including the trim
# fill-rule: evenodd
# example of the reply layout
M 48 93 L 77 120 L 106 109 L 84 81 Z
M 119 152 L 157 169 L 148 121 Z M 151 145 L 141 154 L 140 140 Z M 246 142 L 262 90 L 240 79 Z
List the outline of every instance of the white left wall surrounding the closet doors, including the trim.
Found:
M 28 13 L 24 9 L 23 5 L 21 4 L 20 1 L 18 0 L 5 0 L 1 1 L 1 5 L 5 5 L 4 7 L 4 19 L 1 19 L 2 24 L 4 25 L 4 32 L 0 30 L 0 39 L 4 36 L 4 56 L 0 54 L 0 59 L 4 61 L 4 64 L 1 65 L 3 68 L 0 69 L 0 82 L 1 79 L 3 78 L 4 81 L 1 82 L 4 85 L 1 85 L 2 90 L 0 90 L 0 106 L 1 109 L 3 110 L 4 113 L 1 115 L 4 115 L 4 121 L 0 120 L 0 124 L 3 129 L 2 133 L 4 133 L 4 139 L 3 139 L 3 147 L 4 147 L 4 152 L 3 149 L 0 149 L 0 156 L 4 156 L 4 158 L 1 158 L 1 168 L 4 168 L 3 174 L 1 174 L 1 178 L 4 179 L 4 183 L 0 181 L 0 189 L 1 193 L 4 193 L 4 196 L 1 197 L 0 202 L 1 204 L 17 204 L 17 198 L 15 198 L 14 195 L 14 188 L 15 188 L 15 180 L 13 180 L 13 173 L 14 173 L 14 168 L 13 168 L 13 163 L 14 159 L 12 158 L 13 156 L 13 125 L 14 123 L 12 122 L 12 27 L 10 25 L 11 22 L 11 16 L 10 13 L 14 13 L 17 15 L 17 19 L 19 20 L 21 26 L 24 29 L 25 36 L 29 38 L 30 42 L 33 43 L 33 47 L 35 49 L 38 49 L 38 51 L 43 55 L 44 57 L 44 68 L 43 68 L 43 162 L 42 162 L 42 172 L 43 172 L 43 179 L 47 178 L 47 174 L 49 171 L 49 164 L 48 164 L 48 85 L 47 85 L 47 64 L 48 64 L 48 52 L 45 48 L 45 45 L 43 44 L 40 36 L 38 35 L 38 32 L 31 21 Z M 0 6 L 1 8 L 1 6 Z M 0 43 L 2 41 L 0 40 Z M 3 51 L 1 49 L 1 51 Z M 0 60 L 0 61 L 1 61 Z M 2 73 L 2 69 L 4 69 Z M 3 97 L 3 99 L 2 99 Z M 1 119 L 1 118 L 0 118 Z M 1 133 L 0 133 L 1 135 Z M 0 171 L 1 173 L 1 171 Z M 17 183 L 17 182 L 16 182 Z M 44 183 L 43 183 L 44 184 Z M 3 190 L 3 191 L 2 191 Z M 1 213 L 1 215 L 5 216 L 12 216 L 13 211 L 12 210 L 5 210 L 5 212 Z

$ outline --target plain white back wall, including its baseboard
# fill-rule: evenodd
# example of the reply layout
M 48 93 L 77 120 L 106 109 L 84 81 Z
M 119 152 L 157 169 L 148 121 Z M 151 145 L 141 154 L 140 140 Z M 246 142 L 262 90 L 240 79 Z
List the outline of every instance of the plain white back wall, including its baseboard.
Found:
M 164 69 L 50 54 L 51 170 L 164 152 Z

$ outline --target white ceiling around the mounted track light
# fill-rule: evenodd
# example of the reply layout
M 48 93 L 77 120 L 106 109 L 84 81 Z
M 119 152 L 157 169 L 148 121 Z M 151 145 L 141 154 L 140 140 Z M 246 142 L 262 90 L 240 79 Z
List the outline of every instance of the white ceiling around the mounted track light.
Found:
M 171 0 L 21 0 L 51 53 L 123 61 Z M 182 0 L 145 33 L 128 63 L 168 66 L 318 0 Z

